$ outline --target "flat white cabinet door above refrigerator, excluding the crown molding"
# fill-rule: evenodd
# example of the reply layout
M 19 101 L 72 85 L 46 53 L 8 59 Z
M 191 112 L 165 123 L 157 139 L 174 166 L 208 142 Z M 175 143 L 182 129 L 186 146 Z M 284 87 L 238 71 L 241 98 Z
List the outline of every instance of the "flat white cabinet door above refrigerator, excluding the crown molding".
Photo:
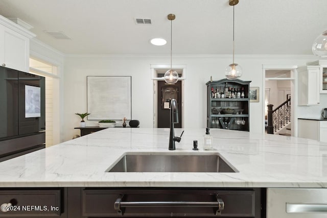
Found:
M 0 35 L 0 44 L 4 48 L 0 51 L 0 65 L 28 72 L 29 38 L 2 25 L 0 25 Z

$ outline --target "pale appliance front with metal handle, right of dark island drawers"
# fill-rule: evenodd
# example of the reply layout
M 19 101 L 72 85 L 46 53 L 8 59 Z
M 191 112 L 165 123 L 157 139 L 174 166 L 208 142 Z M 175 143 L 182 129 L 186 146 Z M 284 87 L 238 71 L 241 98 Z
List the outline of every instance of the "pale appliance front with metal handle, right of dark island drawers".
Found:
M 267 218 L 327 217 L 326 188 L 268 188 Z

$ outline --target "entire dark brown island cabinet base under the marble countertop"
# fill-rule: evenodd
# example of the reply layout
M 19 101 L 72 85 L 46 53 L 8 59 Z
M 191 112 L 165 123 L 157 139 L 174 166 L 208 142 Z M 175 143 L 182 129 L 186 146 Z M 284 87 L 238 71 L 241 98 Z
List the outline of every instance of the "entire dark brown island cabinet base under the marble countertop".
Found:
M 265 193 L 266 188 L 1 188 L 0 217 L 262 218 Z

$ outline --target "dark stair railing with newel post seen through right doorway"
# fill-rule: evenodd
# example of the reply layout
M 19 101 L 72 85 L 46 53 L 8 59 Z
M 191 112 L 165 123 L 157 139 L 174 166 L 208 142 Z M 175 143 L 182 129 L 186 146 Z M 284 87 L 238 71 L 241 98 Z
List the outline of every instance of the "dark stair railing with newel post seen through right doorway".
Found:
M 274 134 L 291 121 L 291 98 L 283 102 L 276 109 L 272 109 L 273 105 L 268 107 L 268 126 L 267 133 Z

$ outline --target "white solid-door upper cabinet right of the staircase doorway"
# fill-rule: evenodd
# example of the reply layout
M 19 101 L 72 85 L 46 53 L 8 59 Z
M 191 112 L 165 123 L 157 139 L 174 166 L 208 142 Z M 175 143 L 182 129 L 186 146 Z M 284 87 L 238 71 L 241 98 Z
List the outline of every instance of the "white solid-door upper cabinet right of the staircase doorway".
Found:
M 298 68 L 298 105 L 319 105 L 319 66 Z

